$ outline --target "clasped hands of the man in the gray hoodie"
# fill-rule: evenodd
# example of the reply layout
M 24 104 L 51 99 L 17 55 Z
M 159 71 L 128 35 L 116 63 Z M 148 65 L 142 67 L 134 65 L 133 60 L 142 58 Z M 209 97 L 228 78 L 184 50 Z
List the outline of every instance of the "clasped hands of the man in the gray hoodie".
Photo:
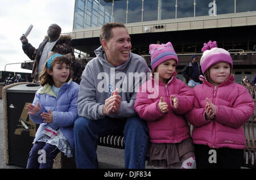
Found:
M 115 89 L 111 93 L 111 96 L 105 100 L 105 105 L 103 106 L 103 114 L 110 115 L 116 114 L 121 106 L 121 96 L 118 95 L 119 89 Z

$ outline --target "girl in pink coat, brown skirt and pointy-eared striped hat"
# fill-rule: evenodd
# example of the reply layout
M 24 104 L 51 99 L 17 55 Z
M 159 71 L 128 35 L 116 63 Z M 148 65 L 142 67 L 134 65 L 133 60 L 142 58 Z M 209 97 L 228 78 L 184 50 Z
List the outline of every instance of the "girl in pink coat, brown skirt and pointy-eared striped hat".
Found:
M 151 44 L 150 54 L 154 76 L 141 85 L 134 105 L 150 130 L 148 165 L 192 169 L 195 153 L 183 114 L 192 109 L 195 97 L 191 88 L 175 78 L 179 60 L 171 42 Z

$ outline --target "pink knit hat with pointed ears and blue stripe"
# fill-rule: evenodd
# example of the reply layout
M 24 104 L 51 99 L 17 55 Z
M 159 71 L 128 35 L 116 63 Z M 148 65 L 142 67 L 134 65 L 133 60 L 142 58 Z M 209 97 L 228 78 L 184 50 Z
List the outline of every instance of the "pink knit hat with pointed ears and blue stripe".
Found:
M 175 59 L 176 65 L 178 64 L 179 59 L 177 58 L 177 54 L 175 53 L 171 42 L 167 42 L 167 44 L 151 44 L 149 48 L 152 70 L 168 59 Z

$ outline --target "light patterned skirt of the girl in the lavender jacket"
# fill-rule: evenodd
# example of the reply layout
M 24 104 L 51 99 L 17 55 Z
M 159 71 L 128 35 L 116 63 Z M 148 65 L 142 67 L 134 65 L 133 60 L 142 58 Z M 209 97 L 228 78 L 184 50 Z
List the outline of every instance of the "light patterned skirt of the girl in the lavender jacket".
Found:
M 64 153 L 67 157 L 73 157 L 72 155 L 72 148 L 63 133 L 57 130 L 58 136 L 52 136 L 51 138 L 47 135 L 41 136 L 36 142 L 46 142 L 52 145 L 55 145 L 61 152 Z

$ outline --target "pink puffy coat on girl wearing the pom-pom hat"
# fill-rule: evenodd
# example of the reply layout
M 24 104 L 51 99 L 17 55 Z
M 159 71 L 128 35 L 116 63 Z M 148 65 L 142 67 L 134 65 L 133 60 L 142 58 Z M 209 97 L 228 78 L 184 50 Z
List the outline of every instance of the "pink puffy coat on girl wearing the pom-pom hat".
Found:
M 185 115 L 187 121 L 194 126 L 193 143 L 208 145 L 210 148 L 245 148 L 245 132 L 242 125 L 254 111 L 254 101 L 249 91 L 234 83 L 233 75 L 217 87 L 204 78 L 201 80 L 204 84 L 193 88 L 193 109 Z M 205 120 L 206 97 L 217 109 L 216 116 L 209 121 Z

